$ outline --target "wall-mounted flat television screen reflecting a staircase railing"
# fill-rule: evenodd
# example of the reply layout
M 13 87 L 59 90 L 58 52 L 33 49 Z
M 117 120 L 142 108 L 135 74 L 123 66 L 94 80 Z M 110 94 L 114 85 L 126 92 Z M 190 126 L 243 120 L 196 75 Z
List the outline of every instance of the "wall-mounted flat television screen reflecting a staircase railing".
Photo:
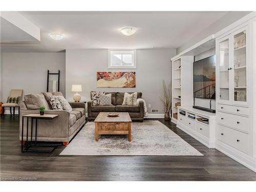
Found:
M 194 97 L 215 99 L 215 55 L 193 63 Z

